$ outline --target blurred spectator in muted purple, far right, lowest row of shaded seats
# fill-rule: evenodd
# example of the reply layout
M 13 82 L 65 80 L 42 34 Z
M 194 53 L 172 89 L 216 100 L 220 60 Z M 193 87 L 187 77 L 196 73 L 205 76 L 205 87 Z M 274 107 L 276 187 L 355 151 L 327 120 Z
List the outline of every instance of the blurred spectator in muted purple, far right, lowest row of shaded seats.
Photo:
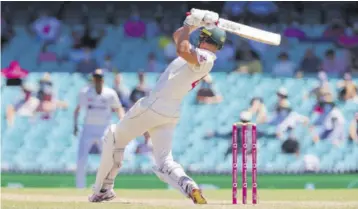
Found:
M 322 70 L 330 75 L 342 75 L 347 71 L 347 64 L 345 60 L 336 57 L 333 49 L 329 49 L 322 62 Z

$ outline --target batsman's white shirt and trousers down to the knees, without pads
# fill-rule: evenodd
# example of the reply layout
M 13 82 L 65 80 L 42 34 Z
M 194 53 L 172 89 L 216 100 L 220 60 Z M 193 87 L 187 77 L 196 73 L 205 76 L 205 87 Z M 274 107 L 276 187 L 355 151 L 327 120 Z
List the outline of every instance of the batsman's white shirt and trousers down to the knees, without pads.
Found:
M 148 131 L 154 149 L 165 144 L 168 144 L 165 149 L 171 149 L 171 138 L 180 115 L 181 102 L 208 75 L 216 59 L 210 51 L 195 50 L 198 66 L 188 64 L 181 57 L 173 60 L 149 95 L 140 99 L 118 123 L 115 134 L 118 137 L 117 147 L 124 148 L 130 140 Z

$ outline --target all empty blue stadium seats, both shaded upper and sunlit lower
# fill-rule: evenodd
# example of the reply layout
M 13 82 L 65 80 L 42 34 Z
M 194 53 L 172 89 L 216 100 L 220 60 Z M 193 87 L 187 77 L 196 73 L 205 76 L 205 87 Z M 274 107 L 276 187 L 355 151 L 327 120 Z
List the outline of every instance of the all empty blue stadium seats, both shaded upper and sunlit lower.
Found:
M 164 19 L 172 21 L 171 25 L 176 25 L 182 20 L 183 11 L 187 11 L 182 3 L 172 6 L 174 2 L 161 5 L 166 11 Z M 41 8 L 56 13 L 61 3 L 39 3 L 31 5 L 32 11 L 41 11 Z M 108 6 L 110 3 L 106 3 Z M 123 23 L 128 18 L 131 8 L 130 4 L 121 2 L 113 4 L 116 11 L 116 18 Z M 153 12 L 146 10 L 149 6 L 142 2 L 142 12 L 144 21 L 153 16 Z M 51 121 L 41 121 L 35 117 L 32 119 L 16 118 L 13 128 L 8 128 L 5 121 L 5 110 L 7 105 L 13 104 L 21 96 L 21 90 L 16 87 L 4 86 L 5 80 L 1 80 L 1 134 L 2 134 L 2 169 L 14 169 L 21 171 L 40 170 L 47 171 L 72 171 L 76 168 L 78 140 L 72 135 L 73 128 L 73 111 L 75 109 L 77 95 L 79 90 L 88 83 L 84 76 L 76 72 L 76 63 L 62 60 L 61 62 L 44 62 L 37 61 L 38 55 L 43 47 L 43 43 L 35 36 L 27 32 L 25 25 L 27 19 L 30 19 L 30 13 L 24 4 L 7 4 L 14 23 L 15 36 L 10 43 L 2 48 L 1 67 L 7 67 L 13 60 L 19 61 L 20 65 L 30 71 L 27 81 L 37 83 L 42 76 L 42 72 L 51 72 L 54 81 L 56 96 L 68 102 L 67 110 L 56 112 Z M 101 65 L 107 54 L 112 55 L 112 61 L 115 66 L 123 73 L 123 83 L 132 89 L 137 83 L 137 72 L 139 69 L 145 69 L 149 53 L 154 53 L 158 62 L 165 64 L 165 56 L 162 49 L 158 47 L 159 37 L 135 39 L 126 37 L 124 34 L 123 24 L 120 26 L 104 24 L 106 16 L 104 4 L 87 5 L 93 15 L 89 15 L 91 26 L 100 25 L 106 31 L 106 35 L 100 40 L 97 48 L 93 51 L 93 58 Z M 152 7 L 151 5 L 150 7 Z M 281 5 L 282 6 L 282 5 Z M 16 8 L 20 9 L 17 10 Z M 23 7 L 23 10 L 21 9 Z M 119 7 L 119 8 L 118 8 Z M 66 57 L 71 53 L 71 47 L 74 42 L 71 36 L 73 29 L 83 30 L 84 26 L 80 24 L 83 8 L 82 3 L 72 2 L 66 6 L 62 20 L 61 35 L 58 42 L 49 45 L 48 50 L 55 52 L 58 57 Z M 153 6 L 153 8 L 155 8 Z M 174 8 L 175 11 L 172 11 Z M 101 11 L 102 10 L 102 11 Z M 281 10 L 279 13 L 291 10 Z M 178 16 L 179 15 L 179 16 Z M 307 36 L 321 36 L 327 28 L 327 24 L 318 24 L 321 14 L 315 8 L 305 8 L 300 28 Z M 283 15 L 285 19 L 289 19 Z M 328 16 L 326 17 L 328 18 Z M 180 20 L 180 21 L 179 21 Z M 116 22 L 117 20 L 115 20 Z M 270 26 L 263 26 L 263 29 L 272 32 L 280 32 L 287 27 L 285 23 L 275 23 Z M 242 42 L 241 38 L 228 34 L 235 45 Z M 286 39 L 283 37 L 283 44 L 280 47 L 268 46 L 266 52 L 260 53 L 264 72 L 270 72 L 274 66 L 278 55 L 285 51 L 295 63 L 299 63 L 308 48 L 313 48 L 315 53 L 321 59 L 327 49 L 335 49 L 340 56 L 340 50 L 331 43 L 302 43 L 296 39 Z M 227 74 L 236 67 L 235 62 L 228 62 L 220 67 L 214 67 L 214 82 L 222 94 L 224 101 L 215 105 L 196 105 L 194 104 L 196 90 L 193 90 L 183 103 L 181 121 L 175 133 L 173 142 L 173 154 L 185 168 L 196 172 L 228 172 L 231 169 L 232 155 L 225 157 L 225 152 L 231 146 L 228 139 L 215 137 L 205 140 L 204 136 L 207 131 L 216 131 L 225 134 L 231 131 L 231 124 L 236 122 L 239 114 L 247 108 L 249 101 L 254 96 L 260 96 L 269 110 L 274 108 L 276 97 L 275 93 L 281 86 L 287 88 L 292 108 L 304 115 L 309 115 L 312 106 L 315 103 L 314 98 L 303 99 L 303 93 L 308 92 L 315 85 L 315 78 L 273 78 L 266 74 L 262 75 L 239 75 Z M 158 78 L 158 74 L 147 73 L 146 80 L 149 86 L 153 86 Z M 105 75 L 106 85 L 113 84 L 113 74 Z M 335 87 L 337 79 L 330 78 L 330 84 Z M 355 80 L 358 83 L 358 79 Z M 335 89 L 335 88 L 334 88 Z M 334 92 L 336 94 L 336 92 Z M 337 95 L 334 95 L 337 97 Z M 357 112 L 357 105 L 354 103 L 338 103 L 346 121 L 353 118 L 353 113 Z M 115 122 L 115 117 L 113 117 Z M 275 127 L 268 125 L 259 126 L 260 131 L 274 133 Z M 299 172 L 304 166 L 303 156 L 305 154 L 315 154 L 320 159 L 321 171 L 344 172 L 358 169 L 358 145 L 344 143 L 340 148 L 332 146 L 330 143 L 322 141 L 314 144 L 312 138 L 307 135 L 307 129 L 297 127 L 295 134 L 300 143 L 300 156 L 285 155 L 281 153 L 281 141 L 263 137 L 258 141 L 258 169 L 259 172 Z M 195 154 L 193 154 L 195 153 Z M 150 171 L 151 159 L 142 155 L 133 155 L 128 153 L 125 159 L 123 172 L 132 172 L 140 170 L 142 172 Z M 239 159 L 241 156 L 239 156 Z M 241 160 L 238 161 L 241 163 Z M 99 163 L 99 156 L 93 155 L 89 158 L 88 169 L 94 171 Z M 250 168 L 250 163 L 249 163 Z

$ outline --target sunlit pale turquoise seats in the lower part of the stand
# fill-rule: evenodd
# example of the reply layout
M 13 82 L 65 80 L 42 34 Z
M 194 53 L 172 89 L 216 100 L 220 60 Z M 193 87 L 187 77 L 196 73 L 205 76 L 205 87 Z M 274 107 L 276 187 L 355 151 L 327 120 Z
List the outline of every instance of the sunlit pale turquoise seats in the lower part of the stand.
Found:
M 28 80 L 36 82 L 41 75 L 41 73 L 31 73 Z M 78 141 L 72 135 L 72 114 L 77 92 L 86 85 L 88 80 L 76 73 L 53 73 L 52 77 L 58 97 L 70 104 L 69 109 L 57 112 L 51 121 L 41 121 L 38 118 L 30 120 L 17 118 L 14 128 L 7 128 L 3 125 L 2 169 L 44 172 L 75 169 Z M 137 82 L 136 74 L 124 73 L 123 77 L 128 87 L 134 87 Z M 157 77 L 158 74 L 148 73 L 148 85 L 153 86 Z M 181 121 L 175 134 L 173 144 L 175 159 L 191 171 L 228 172 L 230 170 L 231 155 L 224 157 L 224 153 L 231 146 L 230 139 L 204 140 L 204 136 L 210 130 L 219 133 L 230 132 L 231 123 L 238 120 L 240 111 L 247 107 L 253 96 L 262 96 L 268 108 L 271 109 L 275 100 L 275 91 L 279 86 L 284 85 L 290 89 L 289 95 L 293 109 L 307 114 L 307 109 L 313 104 L 312 100 L 300 99 L 302 94 L 299 92 L 308 91 L 314 86 L 316 83 L 314 78 L 293 80 L 271 78 L 266 75 L 242 76 L 225 73 L 213 73 L 213 77 L 224 101 L 216 105 L 195 105 L 196 90 L 192 91 L 183 103 Z M 111 85 L 112 81 L 113 74 L 107 74 L 106 84 Z M 2 113 L 8 104 L 13 103 L 20 96 L 20 92 L 18 87 L 2 86 Z M 357 106 L 351 103 L 341 104 L 340 108 L 347 121 L 351 120 L 352 113 L 357 111 Z M 2 124 L 5 123 L 4 115 L 2 115 Z M 270 126 L 259 126 L 258 129 L 267 132 L 274 131 L 274 128 Z M 333 169 L 343 172 L 358 168 L 357 144 L 344 144 L 340 148 L 333 147 L 325 141 L 314 144 L 310 136 L 307 136 L 305 128 L 298 127 L 296 132 L 301 144 L 302 155 L 299 157 L 282 154 L 279 140 L 259 139 L 259 171 L 297 172 L 302 168 L 304 154 L 318 155 L 323 171 Z M 150 171 L 151 160 L 141 155 L 131 156 L 131 159 L 126 160 L 123 172 Z M 88 169 L 94 171 L 98 163 L 99 156 L 91 156 Z

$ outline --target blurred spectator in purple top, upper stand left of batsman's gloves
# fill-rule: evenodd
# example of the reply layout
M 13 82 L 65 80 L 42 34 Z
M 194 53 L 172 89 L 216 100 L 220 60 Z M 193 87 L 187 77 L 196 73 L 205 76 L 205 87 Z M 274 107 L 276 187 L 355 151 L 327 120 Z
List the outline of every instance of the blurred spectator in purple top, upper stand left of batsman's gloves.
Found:
M 146 25 L 140 19 L 140 14 L 138 11 L 133 11 L 131 16 L 129 17 L 129 20 L 124 23 L 124 32 L 129 37 L 144 37 L 146 33 Z

